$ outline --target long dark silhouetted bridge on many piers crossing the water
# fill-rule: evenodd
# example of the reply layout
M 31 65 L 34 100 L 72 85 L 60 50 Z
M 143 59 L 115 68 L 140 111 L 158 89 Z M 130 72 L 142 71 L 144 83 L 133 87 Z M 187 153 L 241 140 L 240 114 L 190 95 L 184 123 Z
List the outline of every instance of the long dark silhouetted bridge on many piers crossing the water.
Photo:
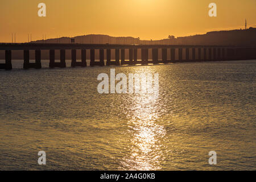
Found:
M 77 61 L 77 50 L 81 50 L 81 61 Z M 188 45 L 120 45 L 120 44 L 46 44 L 46 43 L 0 43 L 0 51 L 5 51 L 5 63 L 0 69 L 12 69 L 12 51 L 23 51 L 23 68 L 42 68 L 41 51 L 49 50 L 49 68 L 65 68 L 65 52 L 71 50 L 71 67 L 86 67 L 86 50 L 90 52 L 90 66 L 167 64 L 189 61 L 254 60 L 256 47 L 248 46 L 188 46 Z M 96 61 L 96 50 L 100 61 Z M 114 61 L 112 50 L 114 49 Z M 35 63 L 30 63 L 30 50 L 35 51 Z M 139 51 L 138 51 L 139 50 Z M 55 61 L 55 52 L 60 51 L 60 62 Z M 138 53 L 140 52 L 140 55 Z M 160 52 L 160 53 L 159 53 Z M 170 59 L 167 59 L 169 52 Z M 196 56 L 197 55 L 197 56 Z M 141 60 L 138 60 L 138 56 Z M 128 60 L 125 58 L 129 57 Z

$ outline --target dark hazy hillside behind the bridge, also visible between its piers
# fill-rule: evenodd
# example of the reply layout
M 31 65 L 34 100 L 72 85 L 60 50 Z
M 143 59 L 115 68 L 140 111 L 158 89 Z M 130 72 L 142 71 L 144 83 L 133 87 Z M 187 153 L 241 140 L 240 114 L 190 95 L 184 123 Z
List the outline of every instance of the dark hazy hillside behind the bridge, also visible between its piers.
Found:
M 31 43 L 71 43 L 71 39 L 75 39 L 75 43 L 81 44 L 143 44 L 143 45 L 215 45 L 215 46 L 256 46 L 256 28 L 250 27 L 247 30 L 230 30 L 230 31 L 212 31 L 203 35 L 193 35 L 177 37 L 170 36 L 170 39 L 162 40 L 140 40 L 133 37 L 113 37 L 109 35 L 82 35 L 73 38 L 62 37 L 56 39 L 36 40 Z M 23 51 L 14 51 L 13 59 L 23 59 Z M 56 51 L 56 56 L 58 55 Z M 67 59 L 71 59 L 71 53 L 67 51 Z M 48 51 L 42 51 L 42 59 L 48 58 Z M 77 59 L 80 56 L 77 57 Z M 97 59 L 96 55 L 96 59 Z M 0 51 L 0 59 L 5 59 L 5 52 Z M 34 58 L 31 53 L 30 59 Z

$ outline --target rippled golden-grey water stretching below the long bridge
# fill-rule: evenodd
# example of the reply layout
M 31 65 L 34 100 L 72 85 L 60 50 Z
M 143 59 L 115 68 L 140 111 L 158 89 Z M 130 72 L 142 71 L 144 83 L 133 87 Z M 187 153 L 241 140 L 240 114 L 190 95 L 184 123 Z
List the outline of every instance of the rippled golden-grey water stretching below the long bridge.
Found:
M 256 169 L 256 61 L 0 71 L 0 169 Z M 68 61 L 70 65 L 70 61 Z M 98 94 L 99 73 L 159 73 L 159 96 Z M 38 151 L 46 151 L 46 166 Z M 209 151 L 217 165 L 209 165 Z

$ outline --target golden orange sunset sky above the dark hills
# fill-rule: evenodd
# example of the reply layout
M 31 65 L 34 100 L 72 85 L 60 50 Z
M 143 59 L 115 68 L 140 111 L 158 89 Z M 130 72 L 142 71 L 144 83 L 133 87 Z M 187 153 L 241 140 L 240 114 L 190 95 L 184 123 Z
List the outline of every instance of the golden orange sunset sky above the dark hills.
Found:
M 46 3 L 46 17 L 38 4 Z M 208 15 L 216 3 L 217 17 Z M 0 42 L 57 36 L 104 34 L 164 39 L 168 35 L 204 34 L 213 30 L 256 26 L 256 0 L 9 0 L 1 1 Z

